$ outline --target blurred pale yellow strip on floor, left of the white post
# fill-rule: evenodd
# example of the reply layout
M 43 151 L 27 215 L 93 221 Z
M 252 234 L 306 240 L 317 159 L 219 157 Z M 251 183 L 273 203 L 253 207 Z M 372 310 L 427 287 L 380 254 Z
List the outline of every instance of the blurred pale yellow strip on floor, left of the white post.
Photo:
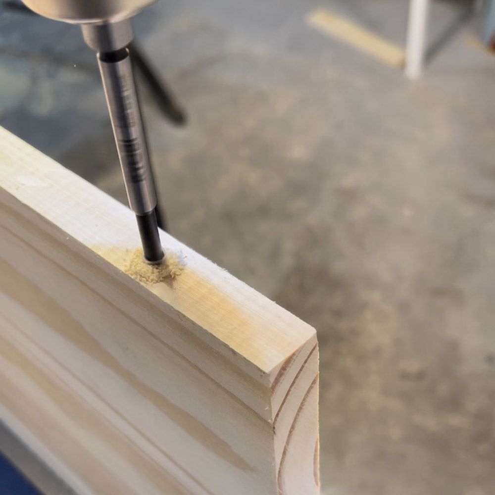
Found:
M 326 34 L 334 36 L 353 47 L 378 58 L 393 67 L 403 67 L 405 52 L 394 44 L 380 38 L 344 17 L 333 14 L 326 9 L 311 11 L 306 21 Z

